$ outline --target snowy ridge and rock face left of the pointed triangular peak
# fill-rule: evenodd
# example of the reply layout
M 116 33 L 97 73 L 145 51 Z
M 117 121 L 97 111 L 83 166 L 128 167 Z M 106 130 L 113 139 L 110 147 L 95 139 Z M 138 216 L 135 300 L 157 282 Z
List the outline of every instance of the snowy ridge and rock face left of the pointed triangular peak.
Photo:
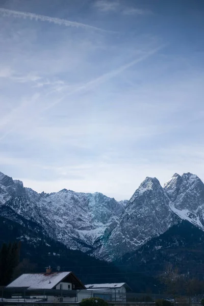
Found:
M 79 193 L 63 189 L 56 193 L 37 193 L 23 188 L 20 181 L 0 173 L 1 205 L 17 215 L 35 220 L 47 234 L 72 249 L 90 250 L 95 242 L 111 231 L 124 211 L 117 202 L 101 193 Z

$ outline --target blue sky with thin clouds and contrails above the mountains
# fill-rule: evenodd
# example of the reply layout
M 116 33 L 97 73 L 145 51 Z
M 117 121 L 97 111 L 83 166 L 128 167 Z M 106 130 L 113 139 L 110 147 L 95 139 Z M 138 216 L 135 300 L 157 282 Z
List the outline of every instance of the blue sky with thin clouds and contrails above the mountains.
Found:
M 0 171 L 129 199 L 204 182 L 203 0 L 0 0 Z

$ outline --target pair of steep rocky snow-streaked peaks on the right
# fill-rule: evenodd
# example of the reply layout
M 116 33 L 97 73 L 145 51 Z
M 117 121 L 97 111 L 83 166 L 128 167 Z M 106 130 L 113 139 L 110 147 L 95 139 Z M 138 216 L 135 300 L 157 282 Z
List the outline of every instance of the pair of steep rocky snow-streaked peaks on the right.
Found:
M 204 231 L 203 218 L 204 184 L 197 175 L 175 173 L 164 188 L 156 178 L 146 177 L 95 255 L 114 260 L 165 233 L 181 219 Z

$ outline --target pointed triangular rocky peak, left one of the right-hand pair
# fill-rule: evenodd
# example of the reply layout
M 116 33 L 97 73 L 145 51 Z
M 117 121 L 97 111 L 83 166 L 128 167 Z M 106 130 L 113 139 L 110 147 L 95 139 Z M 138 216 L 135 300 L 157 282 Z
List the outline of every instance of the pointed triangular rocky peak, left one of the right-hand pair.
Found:
M 95 255 L 105 260 L 114 260 L 164 233 L 177 221 L 159 181 L 146 177 L 127 203 L 118 224 L 100 250 L 95 251 Z

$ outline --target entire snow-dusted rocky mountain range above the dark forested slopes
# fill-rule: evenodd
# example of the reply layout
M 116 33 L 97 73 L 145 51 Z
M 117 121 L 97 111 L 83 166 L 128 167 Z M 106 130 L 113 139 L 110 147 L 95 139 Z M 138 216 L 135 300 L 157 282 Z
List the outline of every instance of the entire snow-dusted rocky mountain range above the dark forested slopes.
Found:
M 164 185 L 146 177 L 129 201 L 63 189 L 37 193 L 0 172 L 0 216 L 37 222 L 50 238 L 108 261 L 133 252 L 187 220 L 204 231 L 204 185 L 174 174 Z M 12 213 L 10 213 L 12 211 Z

